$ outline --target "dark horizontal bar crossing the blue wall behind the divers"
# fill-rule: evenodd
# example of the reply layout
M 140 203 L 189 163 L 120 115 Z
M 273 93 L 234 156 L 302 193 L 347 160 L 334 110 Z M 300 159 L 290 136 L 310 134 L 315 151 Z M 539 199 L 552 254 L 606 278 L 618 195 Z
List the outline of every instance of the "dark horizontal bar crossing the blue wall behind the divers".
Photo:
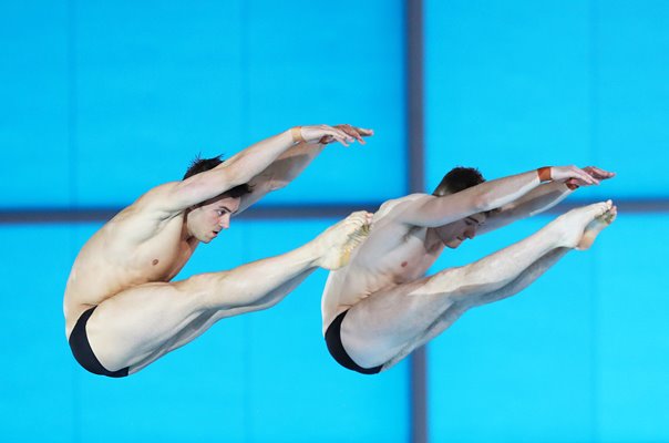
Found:
M 563 202 L 546 214 L 562 214 L 577 206 L 599 200 Z M 667 199 L 614 199 L 621 214 L 669 213 Z M 342 218 L 354 210 L 374 212 L 382 202 L 341 203 L 326 205 L 280 205 L 256 206 L 241 213 L 238 219 L 279 219 L 279 218 Z M 12 208 L 0 209 L 0 224 L 59 224 L 106 222 L 117 214 L 121 207 L 83 207 L 69 208 Z

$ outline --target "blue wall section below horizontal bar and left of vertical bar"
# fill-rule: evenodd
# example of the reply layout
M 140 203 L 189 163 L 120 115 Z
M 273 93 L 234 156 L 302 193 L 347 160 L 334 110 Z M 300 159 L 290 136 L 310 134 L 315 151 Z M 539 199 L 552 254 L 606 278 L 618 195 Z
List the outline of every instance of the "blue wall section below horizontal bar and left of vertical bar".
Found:
M 331 223 L 234 222 L 233 229 L 198 248 L 178 278 L 287 251 Z M 408 364 L 369 378 L 333 361 L 321 333 L 322 270 L 277 307 L 226 319 L 133 377 L 85 372 L 65 341 L 62 293 L 76 251 L 97 226 L 0 227 L 0 241 L 14 257 L 0 276 L 13 295 L 0 311 L 12 331 L 1 348 L 12 356 L 0 368 L 3 439 L 406 440 Z M 333 418 L 347 426 L 332 426 Z

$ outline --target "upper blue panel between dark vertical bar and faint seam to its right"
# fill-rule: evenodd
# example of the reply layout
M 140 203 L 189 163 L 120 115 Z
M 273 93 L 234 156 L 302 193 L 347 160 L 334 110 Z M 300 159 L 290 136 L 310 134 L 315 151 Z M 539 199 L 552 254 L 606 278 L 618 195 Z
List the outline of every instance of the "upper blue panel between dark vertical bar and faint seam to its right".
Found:
M 486 177 L 595 162 L 589 6 L 425 2 L 426 184 L 455 165 Z

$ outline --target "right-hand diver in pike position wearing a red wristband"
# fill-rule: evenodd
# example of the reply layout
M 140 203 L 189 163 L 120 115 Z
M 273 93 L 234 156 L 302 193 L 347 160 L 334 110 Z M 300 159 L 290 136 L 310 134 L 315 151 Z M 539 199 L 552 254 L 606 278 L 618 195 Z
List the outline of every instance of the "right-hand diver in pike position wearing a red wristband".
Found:
M 465 239 L 538 214 L 578 186 L 614 176 L 597 167 L 542 167 L 485 182 L 457 167 L 432 195 L 385 202 L 349 264 L 322 296 L 328 349 L 344 368 L 385 370 L 447 329 L 469 309 L 525 289 L 572 249 L 587 249 L 616 217 L 610 200 L 570 210 L 536 234 L 471 265 L 424 277 Z

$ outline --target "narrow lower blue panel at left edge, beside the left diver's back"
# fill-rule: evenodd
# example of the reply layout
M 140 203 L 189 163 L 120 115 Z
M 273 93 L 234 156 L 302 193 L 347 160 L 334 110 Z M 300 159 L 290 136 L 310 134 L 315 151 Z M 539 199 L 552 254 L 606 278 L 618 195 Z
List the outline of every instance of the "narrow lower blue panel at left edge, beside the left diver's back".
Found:
M 4 225 L 0 243 L 1 440 L 72 442 L 78 405 L 62 305 L 72 230 Z

